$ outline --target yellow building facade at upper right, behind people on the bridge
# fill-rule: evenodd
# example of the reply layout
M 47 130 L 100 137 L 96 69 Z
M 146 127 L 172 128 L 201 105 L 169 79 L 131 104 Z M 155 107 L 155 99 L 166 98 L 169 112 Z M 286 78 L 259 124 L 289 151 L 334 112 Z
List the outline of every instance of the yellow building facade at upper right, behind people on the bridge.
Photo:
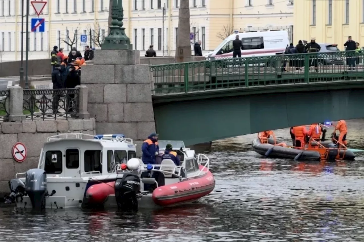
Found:
M 301 0 L 294 2 L 294 42 L 316 38 L 344 50 L 348 36 L 364 46 L 363 0 Z M 299 30 L 299 31 L 298 31 Z

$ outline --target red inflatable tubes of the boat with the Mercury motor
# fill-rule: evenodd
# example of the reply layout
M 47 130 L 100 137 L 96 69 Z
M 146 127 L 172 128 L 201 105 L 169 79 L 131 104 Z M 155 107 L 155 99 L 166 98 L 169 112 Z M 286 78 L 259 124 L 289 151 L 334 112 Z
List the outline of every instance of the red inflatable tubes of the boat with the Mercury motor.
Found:
M 193 202 L 209 194 L 215 187 L 215 179 L 212 173 L 202 165 L 199 165 L 199 169 L 206 173 L 201 176 L 191 177 L 183 182 L 158 187 L 153 191 L 153 194 L 145 196 L 151 196 L 153 202 L 162 207 Z M 86 191 L 88 203 L 102 205 L 109 195 L 115 194 L 114 187 L 115 181 L 90 186 Z

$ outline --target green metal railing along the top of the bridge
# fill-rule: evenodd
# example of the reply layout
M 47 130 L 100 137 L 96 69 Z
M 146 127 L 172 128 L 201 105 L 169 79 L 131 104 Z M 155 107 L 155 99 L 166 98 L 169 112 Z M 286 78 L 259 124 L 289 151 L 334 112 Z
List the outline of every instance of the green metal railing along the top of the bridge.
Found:
M 150 67 L 153 94 L 363 80 L 364 51 L 210 59 Z M 355 62 L 355 69 L 349 67 Z M 317 64 L 317 68 L 314 67 Z

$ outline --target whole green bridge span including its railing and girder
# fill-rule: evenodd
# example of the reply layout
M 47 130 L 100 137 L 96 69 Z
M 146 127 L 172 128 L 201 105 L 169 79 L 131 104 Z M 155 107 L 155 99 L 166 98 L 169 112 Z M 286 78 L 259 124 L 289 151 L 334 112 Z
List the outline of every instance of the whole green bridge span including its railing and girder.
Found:
M 364 117 L 363 55 L 341 51 L 151 66 L 157 132 L 191 145 Z M 359 63 L 355 70 L 348 60 Z M 317 70 L 310 67 L 314 62 Z

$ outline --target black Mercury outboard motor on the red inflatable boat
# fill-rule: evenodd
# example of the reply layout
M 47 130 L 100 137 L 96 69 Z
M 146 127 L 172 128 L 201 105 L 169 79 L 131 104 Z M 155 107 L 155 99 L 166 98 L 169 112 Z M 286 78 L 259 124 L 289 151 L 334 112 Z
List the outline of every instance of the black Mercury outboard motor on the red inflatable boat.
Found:
M 118 208 L 123 210 L 137 210 L 137 194 L 140 193 L 139 175 L 130 172 L 120 173 L 115 181 L 115 198 Z

